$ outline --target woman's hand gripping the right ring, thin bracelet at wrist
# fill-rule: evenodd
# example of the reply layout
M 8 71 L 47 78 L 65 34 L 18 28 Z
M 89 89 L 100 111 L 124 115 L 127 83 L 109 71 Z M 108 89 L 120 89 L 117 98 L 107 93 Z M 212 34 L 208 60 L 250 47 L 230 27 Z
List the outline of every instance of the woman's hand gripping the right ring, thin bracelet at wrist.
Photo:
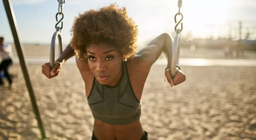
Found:
M 170 68 L 167 68 L 165 70 L 165 76 L 167 78 L 167 81 L 170 83 L 171 87 L 173 85 L 178 85 L 186 80 L 186 75 L 179 69 L 177 70 L 177 73 L 173 79 L 171 78 Z

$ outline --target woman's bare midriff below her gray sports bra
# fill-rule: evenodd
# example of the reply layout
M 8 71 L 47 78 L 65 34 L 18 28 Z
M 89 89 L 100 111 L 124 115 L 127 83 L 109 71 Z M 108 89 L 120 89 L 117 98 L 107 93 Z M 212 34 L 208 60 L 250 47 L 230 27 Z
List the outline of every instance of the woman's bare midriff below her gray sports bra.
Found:
M 140 140 L 143 129 L 139 119 L 126 125 L 110 125 L 94 118 L 94 135 L 98 140 Z

